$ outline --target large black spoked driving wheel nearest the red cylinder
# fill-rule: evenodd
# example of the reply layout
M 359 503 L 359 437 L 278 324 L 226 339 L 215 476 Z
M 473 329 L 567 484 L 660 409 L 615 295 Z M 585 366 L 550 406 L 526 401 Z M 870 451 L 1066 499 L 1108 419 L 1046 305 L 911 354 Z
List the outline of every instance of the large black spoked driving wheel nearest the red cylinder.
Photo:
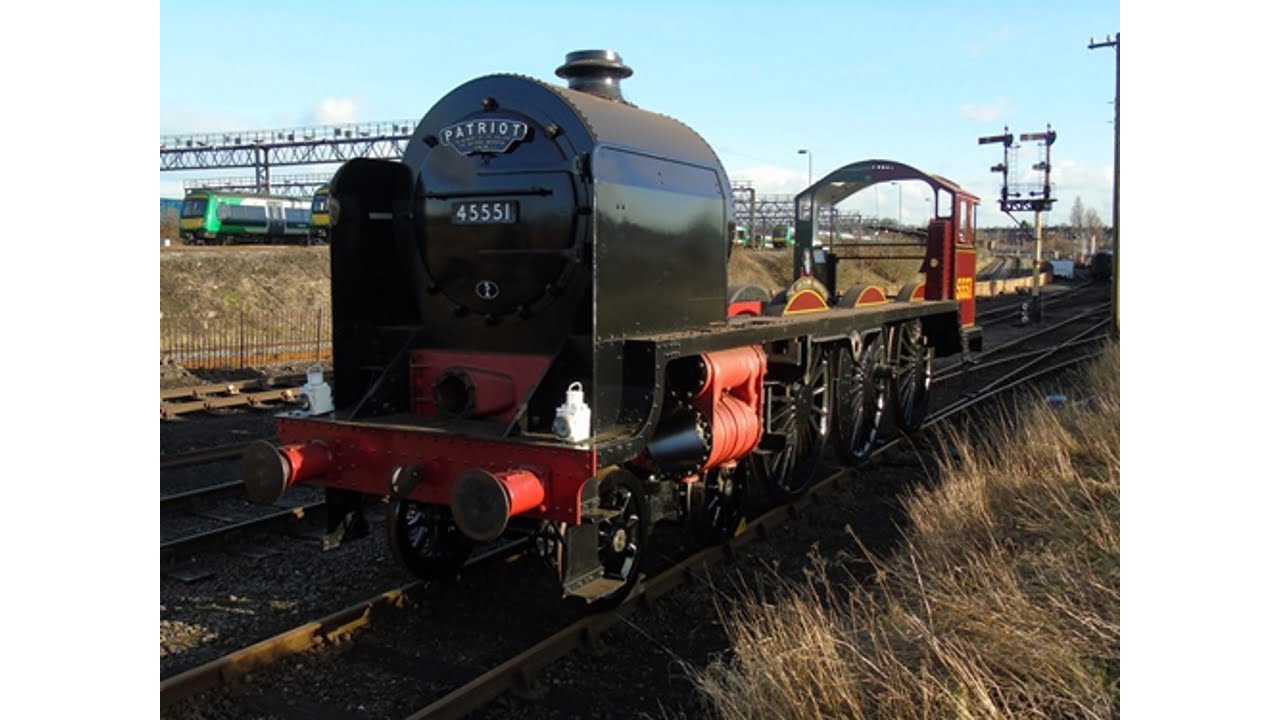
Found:
M 781 436 L 783 447 L 758 454 L 758 471 L 777 501 L 790 502 L 818 475 L 822 450 L 831 434 L 832 383 L 827 347 L 813 343 L 792 380 L 765 380 L 765 434 Z

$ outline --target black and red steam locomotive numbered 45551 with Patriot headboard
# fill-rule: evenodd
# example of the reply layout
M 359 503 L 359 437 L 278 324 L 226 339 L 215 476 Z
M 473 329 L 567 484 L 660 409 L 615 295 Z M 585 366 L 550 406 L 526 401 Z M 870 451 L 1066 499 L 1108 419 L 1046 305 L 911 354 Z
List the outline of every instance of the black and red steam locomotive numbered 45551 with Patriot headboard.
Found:
M 977 197 L 886 160 L 796 199 L 795 282 L 730 287 L 728 177 L 682 123 L 636 108 L 612 51 L 568 54 L 568 87 L 470 81 L 402 160 L 356 159 L 330 186 L 334 383 L 244 455 L 250 496 L 326 495 L 325 542 L 389 498 L 413 574 L 527 542 L 566 596 L 598 606 L 640 578 L 649 529 L 708 542 L 814 482 L 828 441 L 863 456 L 886 418 L 924 418 L 934 357 L 980 346 Z M 814 243 L 815 204 L 922 179 L 924 282 L 833 292 L 850 249 Z M 936 213 L 937 214 L 937 213 Z

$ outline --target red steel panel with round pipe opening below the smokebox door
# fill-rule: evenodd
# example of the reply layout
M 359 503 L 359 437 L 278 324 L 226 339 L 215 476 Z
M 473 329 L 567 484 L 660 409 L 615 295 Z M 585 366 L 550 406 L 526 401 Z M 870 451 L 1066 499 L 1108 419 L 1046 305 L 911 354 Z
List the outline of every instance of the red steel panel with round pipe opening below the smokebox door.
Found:
M 550 366 L 550 356 L 415 350 L 410 361 L 413 413 L 426 418 L 493 419 L 509 423 Z M 438 404 L 436 384 L 465 393 L 465 410 Z

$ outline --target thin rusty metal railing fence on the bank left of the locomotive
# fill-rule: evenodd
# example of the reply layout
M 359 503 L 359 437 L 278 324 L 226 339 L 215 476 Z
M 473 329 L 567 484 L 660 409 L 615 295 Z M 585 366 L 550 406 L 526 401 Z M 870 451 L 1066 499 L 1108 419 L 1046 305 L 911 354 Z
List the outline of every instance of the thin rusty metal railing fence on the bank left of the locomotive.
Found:
M 160 364 L 244 369 L 333 359 L 329 310 L 163 315 Z

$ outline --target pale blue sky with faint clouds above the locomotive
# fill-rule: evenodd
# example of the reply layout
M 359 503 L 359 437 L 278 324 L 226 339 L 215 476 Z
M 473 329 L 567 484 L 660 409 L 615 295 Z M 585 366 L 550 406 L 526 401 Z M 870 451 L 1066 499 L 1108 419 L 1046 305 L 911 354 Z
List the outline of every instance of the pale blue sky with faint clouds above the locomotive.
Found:
M 814 178 L 886 158 L 959 182 L 983 197 L 980 223 L 1010 224 L 988 170 L 1000 147 L 977 138 L 1051 123 L 1060 202 L 1047 220 L 1065 222 L 1080 196 L 1110 222 L 1115 56 L 1087 46 L 1119 29 L 1117 1 L 367 1 L 360 13 L 349 3 L 161 3 L 160 132 L 417 120 L 474 77 L 562 83 L 564 53 L 605 47 L 635 70 L 622 86 L 630 101 L 692 127 L 730 177 L 760 192 L 806 184 L 801 147 Z M 1024 145 L 1019 165 L 1038 151 Z M 216 174 L 160 173 L 161 196 Z M 904 193 L 904 219 L 920 219 L 923 187 Z M 897 211 L 891 188 L 863 195 L 841 209 Z

